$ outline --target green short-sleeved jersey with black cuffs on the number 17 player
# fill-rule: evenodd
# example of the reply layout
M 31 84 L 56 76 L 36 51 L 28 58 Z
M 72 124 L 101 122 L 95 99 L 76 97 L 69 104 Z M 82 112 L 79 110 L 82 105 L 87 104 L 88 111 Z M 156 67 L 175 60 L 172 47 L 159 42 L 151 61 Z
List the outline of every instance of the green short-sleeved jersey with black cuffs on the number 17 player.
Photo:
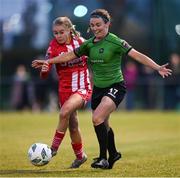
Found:
M 88 56 L 96 87 L 105 88 L 123 80 L 121 60 L 132 47 L 116 35 L 109 33 L 104 39 L 94 42 L 94 37 L 75 49 L 77 56 Z

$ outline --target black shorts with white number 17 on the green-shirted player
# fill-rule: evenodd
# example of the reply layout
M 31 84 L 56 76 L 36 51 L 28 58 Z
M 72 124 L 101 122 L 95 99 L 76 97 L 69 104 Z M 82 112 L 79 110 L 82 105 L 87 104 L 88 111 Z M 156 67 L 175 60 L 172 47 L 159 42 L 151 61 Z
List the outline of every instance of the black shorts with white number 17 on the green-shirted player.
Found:
M 95 110 L 104 96 L 108 96 L 109 98 L 111 98 L 114 101 L 116 107 L 118 107 L 121 101 L 123 100 L 125 94 L 126 86 L 124 81 L 114 83 L 106 88 L 99 88 L 94 86 L 91 99 L 91 108 L 92 110 Z

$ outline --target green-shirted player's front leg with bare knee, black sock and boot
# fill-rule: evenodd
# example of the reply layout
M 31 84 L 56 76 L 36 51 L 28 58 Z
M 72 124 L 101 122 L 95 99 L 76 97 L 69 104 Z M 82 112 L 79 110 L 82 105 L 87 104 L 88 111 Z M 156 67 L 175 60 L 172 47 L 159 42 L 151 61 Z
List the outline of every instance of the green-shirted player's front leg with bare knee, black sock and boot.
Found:
M 91 164 L 93 168 L 107 169 L 109 167 L 107 161 L 108 130 L 105 120 L 115 109 L 116 105 L 112 99 L 104 96 L 98 107 L 93 112 L 92 120 L 100 149 L 99 158 Z

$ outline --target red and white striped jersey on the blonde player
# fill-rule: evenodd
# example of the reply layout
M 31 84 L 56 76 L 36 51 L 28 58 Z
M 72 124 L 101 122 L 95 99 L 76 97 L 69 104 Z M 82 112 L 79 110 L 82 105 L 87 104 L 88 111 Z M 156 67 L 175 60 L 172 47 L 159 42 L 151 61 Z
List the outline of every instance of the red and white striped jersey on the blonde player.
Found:
M 73 51 L 83 43 L 83 38 L 72 38 L 70 44 L 59 44 L 56 39 L 50 42 L 46 58 L 53 58 L 63 53 Z M 91 90 L 87 57 L 73 59 L 69 62 L 56 64 L 59 77 L 59 92 L 76 92 Z

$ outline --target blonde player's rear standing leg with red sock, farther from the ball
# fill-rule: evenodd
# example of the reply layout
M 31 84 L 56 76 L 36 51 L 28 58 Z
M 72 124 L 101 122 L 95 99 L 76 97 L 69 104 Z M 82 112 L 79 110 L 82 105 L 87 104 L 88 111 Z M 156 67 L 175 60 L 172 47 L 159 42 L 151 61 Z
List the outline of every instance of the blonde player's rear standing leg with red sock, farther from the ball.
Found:
M 71 145 L 76 155 L 76 159 L 71 164 L 70 168 L 80 167 L 86 160 L 87 155 L 83 150 L 82 136 L 79 128 L 77 112 L 73 112 L 69 119 L 69 132 L 71 137 Z

